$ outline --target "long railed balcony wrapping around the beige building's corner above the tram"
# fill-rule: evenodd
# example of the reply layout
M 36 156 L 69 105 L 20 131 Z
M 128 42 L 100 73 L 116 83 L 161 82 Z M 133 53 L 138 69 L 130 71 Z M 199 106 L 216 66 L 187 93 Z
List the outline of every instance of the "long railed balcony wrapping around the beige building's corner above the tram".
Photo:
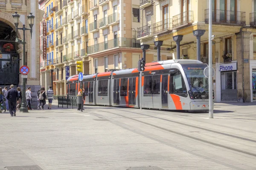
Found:
M 107 42 L 102 42 L 95 44 L 93 46 L 88 46 L 88 54 L 93 54 L 96 52 L 102 52 L 105 50 L 113 49 L 113 48 L 140 48 L 140 40 L 136 40 L 135 38 L 115 38 L 112 40 L 108 40 Z

